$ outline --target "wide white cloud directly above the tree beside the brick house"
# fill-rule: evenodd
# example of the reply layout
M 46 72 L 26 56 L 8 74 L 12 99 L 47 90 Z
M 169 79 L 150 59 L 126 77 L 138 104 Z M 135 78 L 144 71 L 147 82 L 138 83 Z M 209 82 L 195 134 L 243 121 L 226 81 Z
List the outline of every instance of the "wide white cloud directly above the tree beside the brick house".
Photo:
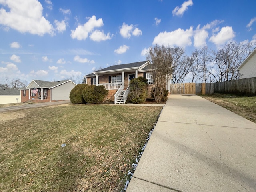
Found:
M 176 29 L 172 32 L 161 32 L 154 38 L 153 45 L 165 46 L 180 46 L 185 47 L 191 45 L 191 37 L 193 35 L 193 27 L 191 26 L 186 31 L 183 29 Z

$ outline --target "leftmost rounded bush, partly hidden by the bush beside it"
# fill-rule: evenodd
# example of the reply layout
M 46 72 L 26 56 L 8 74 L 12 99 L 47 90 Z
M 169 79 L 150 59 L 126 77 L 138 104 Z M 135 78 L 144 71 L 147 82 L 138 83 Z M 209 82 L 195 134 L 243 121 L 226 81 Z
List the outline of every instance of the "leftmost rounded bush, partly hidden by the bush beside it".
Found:
M 87 86 L 87 84 L 78 84 L 70 91 L 69 99 L 72 104 L 85 103 L 85 100 L 83 98 L 83 90 Z

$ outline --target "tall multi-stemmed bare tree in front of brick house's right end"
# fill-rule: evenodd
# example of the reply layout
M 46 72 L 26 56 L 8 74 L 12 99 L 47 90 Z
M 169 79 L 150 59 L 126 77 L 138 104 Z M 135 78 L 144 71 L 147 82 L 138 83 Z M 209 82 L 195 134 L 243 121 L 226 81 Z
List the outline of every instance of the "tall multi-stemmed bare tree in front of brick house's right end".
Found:
M 152 75 L 154 100 L 161 101 L 166 90 L 167 80 L 172 74 L 172 51 L 170 46 L 150 47 L 146 59 L 150 61 L 149 72 Z

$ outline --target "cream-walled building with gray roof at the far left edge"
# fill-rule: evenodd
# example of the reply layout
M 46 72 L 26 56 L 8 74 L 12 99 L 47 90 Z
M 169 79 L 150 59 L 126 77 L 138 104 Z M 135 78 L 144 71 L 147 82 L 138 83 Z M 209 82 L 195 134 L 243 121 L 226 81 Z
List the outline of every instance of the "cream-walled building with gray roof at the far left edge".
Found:
M 18 98 L 18 100 L 17 100 Z M 0 104 L 20 103 L 20 90 L 0 89 Z

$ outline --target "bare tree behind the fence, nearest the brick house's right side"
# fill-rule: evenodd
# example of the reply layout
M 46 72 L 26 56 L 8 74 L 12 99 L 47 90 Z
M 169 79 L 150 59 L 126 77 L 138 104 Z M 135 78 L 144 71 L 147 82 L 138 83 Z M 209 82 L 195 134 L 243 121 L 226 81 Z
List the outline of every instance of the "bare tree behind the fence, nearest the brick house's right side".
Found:
M 170 48 L 172 54 L 172 80 L 174 83 L 184 82 L 193 64 L 192 57 L 188 57 L 184 48 Z

